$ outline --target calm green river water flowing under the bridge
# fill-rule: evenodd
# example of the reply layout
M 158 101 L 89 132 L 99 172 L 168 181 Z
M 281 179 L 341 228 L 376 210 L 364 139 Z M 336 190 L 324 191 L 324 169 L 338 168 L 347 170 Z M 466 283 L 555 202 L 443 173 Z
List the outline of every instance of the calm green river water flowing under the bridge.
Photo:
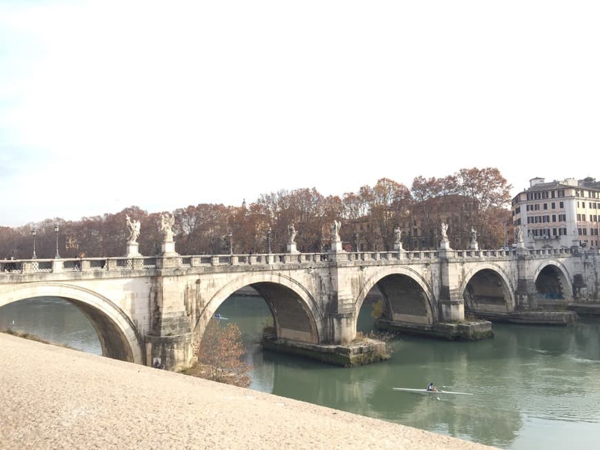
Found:
M 372 328 L 370 305 L 359 329 Z M 250 389 L 397 422 L 501 449 L 597 448 L 600 439 L 600 321 L 574 327 L 494 324 L 494 338 L 446 342 L 399 336 L 386 362 L 344 369 L 263 352 L 272 323 L 264 300 L 231 296 L 222 316 L 243 333 L 252 363 Z M 92 325 L 60 298 L 0 308 L 0 329 L 37 334 L 101 354 Z M 432 381 L 470 396 L 394 391 Z

